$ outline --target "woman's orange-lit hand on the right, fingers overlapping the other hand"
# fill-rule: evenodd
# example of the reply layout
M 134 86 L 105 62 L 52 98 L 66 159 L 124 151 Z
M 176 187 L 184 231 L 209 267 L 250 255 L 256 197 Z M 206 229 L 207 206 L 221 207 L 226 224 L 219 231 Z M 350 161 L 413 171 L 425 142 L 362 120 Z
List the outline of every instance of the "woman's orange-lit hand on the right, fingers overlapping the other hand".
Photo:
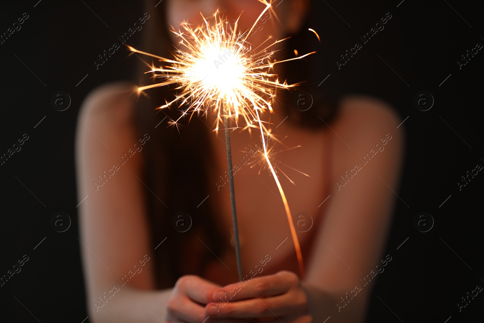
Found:
M 259 321 L 311 323 L 308 297 L 299 277 L 289 271 L 227 285 L 205 307 L 211 318 L 259 318 Z M 268 322 L 269 323 L 269 322 Z

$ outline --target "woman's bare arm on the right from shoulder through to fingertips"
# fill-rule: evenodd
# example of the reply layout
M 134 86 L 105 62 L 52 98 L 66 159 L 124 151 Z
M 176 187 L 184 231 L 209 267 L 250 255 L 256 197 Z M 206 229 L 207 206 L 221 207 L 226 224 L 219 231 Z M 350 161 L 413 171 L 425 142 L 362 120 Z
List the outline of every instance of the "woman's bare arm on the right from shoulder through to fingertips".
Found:
M 391 109 L 376 100 L 343 101 L 331 124 L 333 189 L 326 202 L 330 205 L 316 228 L 305 281 L 281 271 L 246 285 L 228 285 L 214 293 L 213 301 L 221 302 L 218 292 L 229 294 L 230 301 L 208 304 L 207 315 L 275 317 L 271 323 L 322 323 L 330 316 L 331 322 L 363 322 L 373 277 L 392 259 L 381 253 L 397 198 L 392 190 L 398 188 L 402 166 L 399 123 Z

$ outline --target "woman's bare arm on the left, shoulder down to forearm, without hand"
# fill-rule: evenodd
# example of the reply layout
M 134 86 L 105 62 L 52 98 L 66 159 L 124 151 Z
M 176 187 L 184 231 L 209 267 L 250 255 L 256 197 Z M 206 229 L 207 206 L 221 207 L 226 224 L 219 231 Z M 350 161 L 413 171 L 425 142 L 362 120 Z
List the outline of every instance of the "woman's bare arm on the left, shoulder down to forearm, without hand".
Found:
M 153 261 L 145 260 L 145 255 L 151 259 L 152 250 L 142 183 L 136 179 L 142 156 L 135 144 L 142 148 L 138 140 L 143 138 L 136 138 L 132 124 L 134 99 L 127 85 L 106 85 L 87 97 L 78 116 L 79 240 L 93 322 L 153 317 L 141 302 L 163 318 L 163 307 L 153 307 L 153 302 L 163 301 L 169 292 L 154 291 Z M 130 150 L 135 154 L 131 156 Z M 121 159 L 125 154 L 130 158 Z

